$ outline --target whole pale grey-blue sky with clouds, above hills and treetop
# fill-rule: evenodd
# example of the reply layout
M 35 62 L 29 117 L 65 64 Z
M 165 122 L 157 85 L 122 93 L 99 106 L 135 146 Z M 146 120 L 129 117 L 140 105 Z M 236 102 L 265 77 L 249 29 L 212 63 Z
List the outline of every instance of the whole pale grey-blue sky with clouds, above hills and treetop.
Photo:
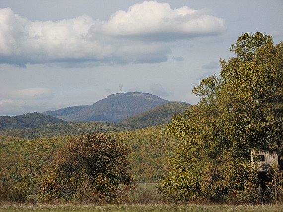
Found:
M 1 0 L 0 115 L 193 87 L 244 33 L 283 41 L 283 0 Z

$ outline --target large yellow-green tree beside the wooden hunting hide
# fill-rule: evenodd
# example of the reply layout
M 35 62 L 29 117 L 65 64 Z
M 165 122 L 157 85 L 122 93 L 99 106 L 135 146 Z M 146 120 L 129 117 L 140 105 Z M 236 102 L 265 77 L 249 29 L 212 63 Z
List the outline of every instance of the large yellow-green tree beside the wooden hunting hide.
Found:
M 251 148 L 282 153 L 283 42 L 275 46 L 269 35 L 246 33 L 230 51 L 236 56 L 220 59 L 219 77 L 194 88 L 198 105 L 167 126 L 183 144 L 170 159 L 164 189 L 223 202 L 255 180 Z

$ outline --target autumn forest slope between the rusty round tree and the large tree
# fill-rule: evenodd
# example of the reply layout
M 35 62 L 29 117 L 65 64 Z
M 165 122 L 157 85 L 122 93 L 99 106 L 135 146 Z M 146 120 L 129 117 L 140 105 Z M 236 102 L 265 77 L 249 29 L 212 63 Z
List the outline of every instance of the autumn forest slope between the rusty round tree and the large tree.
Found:
M 168 175 L 168 158 L 173 156 L 179 141 L 168 136 L 166 125 L 115 133 L 115 136 L 131 147 L 131 173 L 136 181 L 153 182 Z

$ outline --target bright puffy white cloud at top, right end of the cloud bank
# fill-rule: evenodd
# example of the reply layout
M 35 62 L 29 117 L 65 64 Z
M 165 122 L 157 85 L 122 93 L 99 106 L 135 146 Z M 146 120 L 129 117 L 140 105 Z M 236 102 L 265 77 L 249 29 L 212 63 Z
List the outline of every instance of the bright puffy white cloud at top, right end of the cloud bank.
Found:
M 221 18 L 183 6 L 171 9 L 169 3 L 143 1 L 119 10 L 102 26 L 102 32 L 117 36 L 146 36 L 153 40 L 220 34 L 225 30 Z M 160 35 L 160 37 L 154 36 Z

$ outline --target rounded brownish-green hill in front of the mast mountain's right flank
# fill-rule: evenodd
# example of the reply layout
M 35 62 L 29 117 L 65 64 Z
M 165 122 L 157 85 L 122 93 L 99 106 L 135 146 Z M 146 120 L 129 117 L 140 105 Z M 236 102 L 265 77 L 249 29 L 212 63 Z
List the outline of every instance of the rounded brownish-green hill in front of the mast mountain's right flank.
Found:
M 140 129 L 170 123 L 174 114 L 183 114 L 190 107 L 191 105 L 188 103 L 169 102 L 142 112 L 139 115 L 124 119 L 118 123 L 118 126 Z

